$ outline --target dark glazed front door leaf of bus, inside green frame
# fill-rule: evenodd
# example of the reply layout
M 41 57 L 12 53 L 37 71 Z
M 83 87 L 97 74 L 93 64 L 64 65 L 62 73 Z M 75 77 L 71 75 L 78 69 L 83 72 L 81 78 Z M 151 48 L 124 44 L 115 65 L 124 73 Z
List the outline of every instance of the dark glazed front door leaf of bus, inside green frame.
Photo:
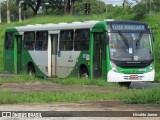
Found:
M 94 33 L 93 50 L 93 77 L 102 76 L 102 35 L 103 33 Z

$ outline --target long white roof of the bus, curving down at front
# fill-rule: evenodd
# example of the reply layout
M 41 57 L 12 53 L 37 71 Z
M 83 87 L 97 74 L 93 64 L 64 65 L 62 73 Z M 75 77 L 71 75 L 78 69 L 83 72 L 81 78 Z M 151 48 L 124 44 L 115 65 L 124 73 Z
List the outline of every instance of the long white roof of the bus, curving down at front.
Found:
M 35 25 L 26 25 L 26 26 L 17 26 L 17 27 L 8 27 L 7 32 L 10 31 L 18 31 L 18 32 L 25 32 L 25 31 L 59 31 L 59 30 L 69 30 L 69 29 L 85 29 L 89 28 L 92 29 L 97 23 L 100 22 L 106 22 L 107 25 L 113 25 L 113 24 L 133 24 L 133 25 L 144 25 L 146 29 L 148 29 L 148 25 L 145 22 L 140 21 L 133 21 L 133 20 L 104 20 L 104 21 L 84 21 L 79 22 L 75 21 L 72 23 L 48 23 L 48 24 L 35 24 Z

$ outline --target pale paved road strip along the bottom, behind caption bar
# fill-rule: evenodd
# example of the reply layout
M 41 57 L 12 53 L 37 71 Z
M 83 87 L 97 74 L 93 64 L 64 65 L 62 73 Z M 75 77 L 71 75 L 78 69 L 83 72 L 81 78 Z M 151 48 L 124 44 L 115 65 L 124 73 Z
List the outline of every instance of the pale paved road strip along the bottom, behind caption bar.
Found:
M 85 101 L 85 102 L 55 102 L 55 103 L 33 103 L 33 104 L 2 104 L 0 105 L 0 111 L 125 111 L 120 112 L 125 115 L 126 111 L 159 111 L 160 105 L 134 105 L 124 104 L 122 101 Z M 100 113 L 101 113 L 100 112 Z M 71 117 L 51 117 L 51 118 L 38 118 L 38 120 L 160 120 L 160 117 L 83 117 L 87 112 L 69 113 Z M 140 112 L 141 113 L 141 112 Z M 154 113 L 154 112 L 153 112 Z M 87 113 L 88 114 L 88 113 Z M 94 113 L 95 114 L 95 113 Z M 94 116 L 93 114 L 93 116 Z M 106 112 L 107 114 L 107 112 Z M 111 114 L 117 114 L 116 112 Z M 120 114 L 120 115 L 121 115 Z M 160 112 L 159 112 L 160 114 Z M 64 112 L 63 115 L 68 115 Z M 91 114 L 92 115 L 92 114 Z M 1 120 L 2 118 L 0 118 Z M 2 120 L 31 120 L 30 118 L 3 118 Z M 34 120 L 37 120 L 34 119 Z

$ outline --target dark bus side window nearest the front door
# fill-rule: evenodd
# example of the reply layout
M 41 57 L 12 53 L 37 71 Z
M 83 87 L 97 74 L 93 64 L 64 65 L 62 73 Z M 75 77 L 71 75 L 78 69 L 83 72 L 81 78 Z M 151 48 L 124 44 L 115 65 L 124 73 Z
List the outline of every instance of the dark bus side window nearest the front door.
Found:
M 88 50 L 89 49 L 90 30 L 79 29 L 75 31 L 74 50 Z

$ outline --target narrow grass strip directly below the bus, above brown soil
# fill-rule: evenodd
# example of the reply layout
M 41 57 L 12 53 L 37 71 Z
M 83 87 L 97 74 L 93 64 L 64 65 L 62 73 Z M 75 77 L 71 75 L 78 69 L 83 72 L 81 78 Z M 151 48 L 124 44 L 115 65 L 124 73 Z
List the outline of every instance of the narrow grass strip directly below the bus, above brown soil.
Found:
M 0 77 L 0 83 L 26 83 L 26 82 L 50 82 L 50 83 L 59 83 L 63 85 L 95 85 L 95 86 L 103 86 L 103 87 L 113 87 L 113 88 L 120 88 L 120 86 L 109 83 L 106 80 L 102 79 L 93 79 L 93 80 L 86 80 L 86 79 L 79 79 L 79 78 L 67 78 L 67 79 L 60 79 L 60 78 L 53 78 L 53 79 L 43 79 L 34 76 L 29 76 L 27 74 L 22 75 L 15 75 L 13 77 Z M 122 87 L 121 87 L 122 88 Z M 126 89 L 125 87 L 123 89 Z

